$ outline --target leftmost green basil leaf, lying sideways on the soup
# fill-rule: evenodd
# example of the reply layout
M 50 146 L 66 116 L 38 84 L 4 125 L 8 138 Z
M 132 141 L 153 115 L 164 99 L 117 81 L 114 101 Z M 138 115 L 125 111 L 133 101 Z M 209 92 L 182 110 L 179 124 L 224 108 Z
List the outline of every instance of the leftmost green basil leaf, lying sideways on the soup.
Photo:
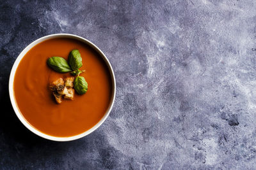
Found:
M 67 73 L 68 71 L 72 71 L 70 66 L 68 66 L 67 60 L 62 57 L 51 57 L 47 60 L 48 66 L 50 66 L 55 71 L 60 73 Z

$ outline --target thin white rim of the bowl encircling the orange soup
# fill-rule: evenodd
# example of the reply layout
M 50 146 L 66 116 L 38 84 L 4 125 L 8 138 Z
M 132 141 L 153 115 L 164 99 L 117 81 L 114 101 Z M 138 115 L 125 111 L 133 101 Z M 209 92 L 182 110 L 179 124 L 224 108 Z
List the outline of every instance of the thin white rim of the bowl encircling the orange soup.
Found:
M 29 124 L 29 122 L 22 116 L 22 113 L 19 111 L 19 108 L 18 108 L 17 103 L 15 101 L 15 96 L 14 96 L 14 92 L 13 92 L 13 82 L 14 82 L 15 73 L 16 73 L 17 67 L 19 66 L 20 60 L 22 60 L 24 55 L 26 55 L 26 53 L 29 50 L 31 50 L 31 48 L 33 48 L 35 45 L 38 45 L 38 43 L 41 43 L 42 41 L 45 41 L 47 39 L 53 39 L 53 38 L 72 38 L 72 39 L 77 39 L 77 40 L 85 43 L 86 45 L 89 45 L 90 47 L 93 48 L 93 50 L 95 50 L 97 53 L 99 53 L 100 57 L 102 57 L 104 62 L 107 64 L 109 72 L 111 74 L 112 94 L 111 94 L 111 100 L 110 100 L 110 103 L 109 103 L 108 110 L 104 114 L 104 117 L 102 117 L 100 119 L 100 121 L 97 124 L 95 124 L 91 129 L 88 129 L 87 131 L 85 131 L 81 134 L 77 134 L 75 136 L 56 137 L 56 136 L 51 136 L 49 134 L 44 134 L 43 132 L 40 132 L 38 129 L 33 127 L 33 125 Z M 113 108 L 113 104 L 115 102 L 115 96 L 116 96 L 115 74 L 114 74 L 113 68 L 112 68 L 108 58 L 106 57 L 106 55 L 99 49 L 99 47 L 97 47 L 95 44 L 93 44 L 88 39 L 85 39 L 81 36 L 77 36 L 77 35 L 74 35 L 74 34 L 67 34 L 67 33 L 50 34 L 50 35 L 47 35 L 47 36 L 43 36 L 42 38 L 36 39 L 32 43 L 30 43 L 28 46 L 26 46 L 26 48 L 24 48 L 24 50 L 22 50 L 22 52 L 20 52 L 19 56 L 17 57 L 17 59 L 15 60 L 13 66 L 12 66 L 12 70 L 11 70 L 11 73 L 10 73 L 9 96 L 10 96 L 10 101 L 12 103 L 12 107 L 13 107 L 13 110 L 15 111 L 15 114 L 19 118 L 20 122 L 22 122 L 22 124 L 25 125 L 25 127 L 27 127 L 31 132 L 35 133 L 36 135 L 38 135 L 42 138 L 49 139 L 49 140 L 52 140 L 52 141 L 72 141 L 72 140 L 76 140 L 76 139 L 79 139 L 79 138 L 83 138 L 84 136 L 87 136 L 88 134 L 95 131 L 96 129 L 98 129 L 98 127 L 100 127 L 100 125 L 102 125 L 102 123 L 108 117 L 110 111 Z

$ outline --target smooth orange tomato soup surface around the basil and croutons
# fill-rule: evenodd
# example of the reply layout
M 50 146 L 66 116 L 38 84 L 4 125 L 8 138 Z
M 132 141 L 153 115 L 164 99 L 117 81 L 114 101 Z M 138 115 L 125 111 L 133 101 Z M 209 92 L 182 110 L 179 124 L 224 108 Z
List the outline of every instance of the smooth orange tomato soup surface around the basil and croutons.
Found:
M 77 49 L 83 66 L 80 74 L 88 83 L 86 94 L 75 94 L 74 100 L 54 101 L 50 83 L 71 76 L 58 73 L 47 66 L 52 56 L 68 59 Z M 43 41 L 29 50 L 15 73 L 13 90 L 15 101 L 23 117 L 38 131 L 56 137 L 81 134 L 97 124 L 108 110 L 111 100 L 111 76 L 104 60 L 90 46 L 70 38 Z

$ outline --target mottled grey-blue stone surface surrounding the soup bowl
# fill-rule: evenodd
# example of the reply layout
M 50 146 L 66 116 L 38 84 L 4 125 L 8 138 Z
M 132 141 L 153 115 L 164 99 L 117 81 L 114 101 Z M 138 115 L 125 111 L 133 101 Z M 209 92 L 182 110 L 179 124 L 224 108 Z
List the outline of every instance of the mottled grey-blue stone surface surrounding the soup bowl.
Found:
M 0 169 L 255 169 L 256 2 L 1 1 Z M 47 141 L 17 119 L 13 62 L 67 32 L 108 56 L 116 102 L 97 131 Z

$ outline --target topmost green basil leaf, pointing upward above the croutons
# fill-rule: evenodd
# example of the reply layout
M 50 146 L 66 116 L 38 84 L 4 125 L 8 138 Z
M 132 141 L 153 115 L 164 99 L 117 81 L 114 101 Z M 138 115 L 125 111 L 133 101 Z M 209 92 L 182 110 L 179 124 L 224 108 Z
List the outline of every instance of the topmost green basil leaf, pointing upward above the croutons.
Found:
M 71 66 L 72 70 L 76 71 L 82 67 L 82 57 L 78 50 L 72 50 L 68 55 L 68 64 Z

